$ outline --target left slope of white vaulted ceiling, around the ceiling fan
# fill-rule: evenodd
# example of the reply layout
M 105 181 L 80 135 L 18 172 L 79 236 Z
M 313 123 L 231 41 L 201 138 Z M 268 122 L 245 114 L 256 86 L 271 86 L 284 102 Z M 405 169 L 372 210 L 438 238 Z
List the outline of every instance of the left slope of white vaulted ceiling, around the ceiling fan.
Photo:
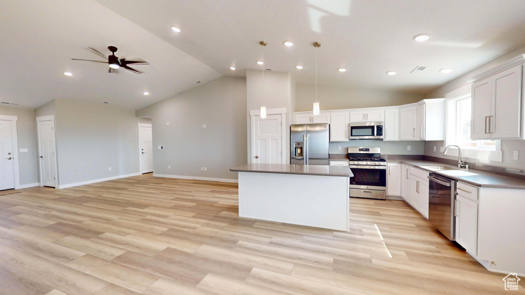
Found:
M 0 36 L 0 101 L 25 108 L 71 99 L 136 110 L 221 76 L 91 0 L 4 1 Z M 119 58 L 143 58 L 150 65 L 135 66 L 141 75 L 123 69 L 113 74 L 108 65 L 71 60 L 102 60 L 85 48 L 108 56 L 109 45 L 118 47 Z

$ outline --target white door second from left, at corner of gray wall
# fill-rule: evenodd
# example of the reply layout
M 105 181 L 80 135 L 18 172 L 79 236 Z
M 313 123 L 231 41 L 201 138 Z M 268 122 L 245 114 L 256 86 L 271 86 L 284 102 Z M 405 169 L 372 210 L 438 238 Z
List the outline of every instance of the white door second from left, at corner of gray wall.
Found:
M 38 148 L 40 157 L 40 183 L 57 186 L 57 158 L 55 155 L 55 120 L 38 121 Z

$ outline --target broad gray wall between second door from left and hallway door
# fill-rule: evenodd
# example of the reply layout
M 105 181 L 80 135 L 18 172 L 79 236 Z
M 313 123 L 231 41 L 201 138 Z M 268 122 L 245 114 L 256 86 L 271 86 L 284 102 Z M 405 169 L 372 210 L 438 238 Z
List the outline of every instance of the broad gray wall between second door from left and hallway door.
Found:
M 70 100 L 55 108 L 59 185 L 139 173 L 135 111 Z

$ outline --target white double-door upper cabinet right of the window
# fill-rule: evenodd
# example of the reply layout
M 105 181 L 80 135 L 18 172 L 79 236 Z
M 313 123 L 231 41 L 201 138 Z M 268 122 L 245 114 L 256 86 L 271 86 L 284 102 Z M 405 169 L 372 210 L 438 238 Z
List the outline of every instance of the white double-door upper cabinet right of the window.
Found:
M 472 139 L 523 139 L 523 62 L 503 62 L 468 80 L 472 84 Z

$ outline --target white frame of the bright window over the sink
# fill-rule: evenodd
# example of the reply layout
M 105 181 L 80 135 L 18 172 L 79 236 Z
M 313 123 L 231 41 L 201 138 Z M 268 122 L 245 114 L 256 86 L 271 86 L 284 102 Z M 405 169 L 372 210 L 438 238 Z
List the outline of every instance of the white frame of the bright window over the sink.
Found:
M 469 88 L 470 90 L 470 88 Z M 464 92 L 458 95 L 458 93 L 454 97 L 449 97 L 445 99 L 445 108 L 446 108 L 446 121 L 445 121 L 445 146 L 448 146 L 450 144 L 457 144 L 457 130 L 458 130 L 458 116 L 457 116 L 457 102 L 461 99 L 465 99 L 467 96 L 471 97 L 471 92 Z M 454 102 L 453 107 L 453 114 L 451 114 L 451 107 L 450 103 Z M 451 117 L 452 116 L 452 117 Z M 450 132 L 454 128 L 454 132 Z M 496 150 L 495 151 L 489 151 L 489 150 L 483 150 L 483 149 L 463 149 L 461 148 L 462 156 L 469 158 L 469 159 L 475 159 L 479 160 L 481 162 L 502 162 L 503 160 L 503 152 L 501 151 L 501 140 L 495 140 L 496 141 Z M 458 156 L 459 150 L 454 146 L 451 147 L 448 152 L 447 156 Z

